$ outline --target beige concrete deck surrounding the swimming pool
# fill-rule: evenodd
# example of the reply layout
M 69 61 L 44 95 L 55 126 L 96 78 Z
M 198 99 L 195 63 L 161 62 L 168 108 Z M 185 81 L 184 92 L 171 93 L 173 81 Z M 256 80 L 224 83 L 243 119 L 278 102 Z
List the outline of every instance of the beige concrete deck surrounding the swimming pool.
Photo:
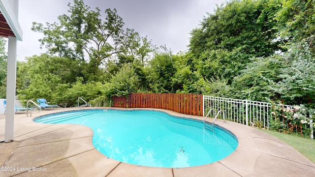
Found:
M 89 109 L 89 108 L 84 108 Z M 92 108 L 97 109 L 97 108 Z M 114 109 L 114 108 L 101 108 Z M 228 157 L 188 168 L 155 168 L 126 164 L 98 152 L 93 131 L 73 124 L 44 124 L 32 119 L 78 108 L 42 110 L 15 115 L 14 141 L 0 143 L 0 177 L 314 177 L 315 164 L 279 139 L 256 128 L 221 119 L 216 124 L 232 132 L 239 145 Z M 131 109 L 129 109 L 131 110 Z M 161 109 L 170 115 L 203 119 Z M 210 119 L 209 119 L 210 120 Z M 0 141 L 5 115 L 0 115 Z M 298 143 L 298 142 L 297 142 Z

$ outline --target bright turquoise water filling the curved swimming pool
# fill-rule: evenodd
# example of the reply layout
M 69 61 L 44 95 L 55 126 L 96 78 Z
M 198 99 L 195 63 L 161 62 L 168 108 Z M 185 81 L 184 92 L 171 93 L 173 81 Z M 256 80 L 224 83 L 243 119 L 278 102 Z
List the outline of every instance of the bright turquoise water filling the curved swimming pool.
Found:
M 101 153 L 122 162 L 151 167 L 192 167 L 221 160 L 238 142 L 216 126 L 177 118 L 158 111 L 81 110 L 35 118 L 42 123 L 73 123 L 91 127 L 93 144 Z

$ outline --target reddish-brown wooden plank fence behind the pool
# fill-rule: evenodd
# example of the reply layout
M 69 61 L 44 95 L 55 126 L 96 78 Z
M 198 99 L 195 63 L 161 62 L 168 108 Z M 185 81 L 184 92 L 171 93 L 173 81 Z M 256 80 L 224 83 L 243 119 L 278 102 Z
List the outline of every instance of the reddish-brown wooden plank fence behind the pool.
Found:
M 182 114 L 202 116 L 202 94 L 185 93 L 132 93 L 128 96 L 112 96 L 114 107 L 158 108 Z

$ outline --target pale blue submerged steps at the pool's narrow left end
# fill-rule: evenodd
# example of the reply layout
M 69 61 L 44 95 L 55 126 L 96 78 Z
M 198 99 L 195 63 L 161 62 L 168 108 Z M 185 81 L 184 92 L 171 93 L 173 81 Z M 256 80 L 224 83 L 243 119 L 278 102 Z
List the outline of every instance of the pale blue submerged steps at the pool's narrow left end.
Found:
M 69 120 L 72 118 L 78 118 L 86 115 L 92 114 L 91 112 L 76 112 L 76 113 L 65 113 L 65 114 L 57 114 L 53 116 L 49 116 L 47 118 L 40 118 L 36 120 L 36 122 L 40 123 L 58 123 L 60 121 Z

